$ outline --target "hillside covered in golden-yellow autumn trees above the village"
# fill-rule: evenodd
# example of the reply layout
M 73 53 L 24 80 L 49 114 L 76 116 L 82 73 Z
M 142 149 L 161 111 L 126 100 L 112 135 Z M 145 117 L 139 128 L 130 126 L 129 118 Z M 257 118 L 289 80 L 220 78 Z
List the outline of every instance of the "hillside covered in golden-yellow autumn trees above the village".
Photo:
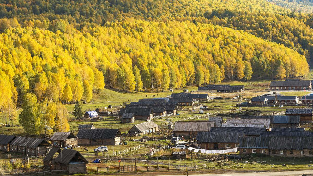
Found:
M 0 0 L 0 108 L 304 76 L 312 25 L 265 0 Z

